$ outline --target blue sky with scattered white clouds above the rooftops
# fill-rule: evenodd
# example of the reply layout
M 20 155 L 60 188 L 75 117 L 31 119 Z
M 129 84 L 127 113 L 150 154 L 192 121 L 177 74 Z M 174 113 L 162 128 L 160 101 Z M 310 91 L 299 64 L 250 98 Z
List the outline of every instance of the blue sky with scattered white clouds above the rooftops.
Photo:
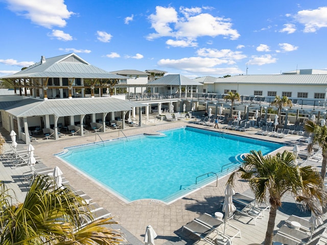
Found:
M 0 0 L 0 76 L 75 53 L 189 78 L 327 69 L 327 2 Z

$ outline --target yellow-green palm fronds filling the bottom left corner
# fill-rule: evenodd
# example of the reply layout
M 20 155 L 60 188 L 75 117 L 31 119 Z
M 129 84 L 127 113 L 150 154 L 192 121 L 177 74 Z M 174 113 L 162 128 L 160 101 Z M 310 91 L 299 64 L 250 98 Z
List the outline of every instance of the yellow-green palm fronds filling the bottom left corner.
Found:
M 87 204 L 71 189 L 53 189 L 50 177 L 38 176 L 24 203 L 14 204 L 5 184 L 0 183 L 0 244 L 120 244 L 125 241 L 110 218 L 94 220 Z M 79 217 L 93 220 L 81 225 Z

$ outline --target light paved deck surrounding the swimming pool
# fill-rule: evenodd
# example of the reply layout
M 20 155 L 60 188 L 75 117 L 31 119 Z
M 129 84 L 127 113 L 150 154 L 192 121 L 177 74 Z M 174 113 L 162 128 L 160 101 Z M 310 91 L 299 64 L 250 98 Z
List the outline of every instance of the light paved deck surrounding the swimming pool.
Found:
M 123 130 L 123 132 L 126 136 L 130 136 L 135 134 L 153 133 L 159 130 L 177 128 L 186 125 L 213 131 L 221 131 L 221 129 L 214 129 L 213 127 L 195 125 L 191 123 L 190 120 L 173 122 L 157 120 L 143 127 L 129 127 L 128 129 Z M 306 148 L 305 143 L 296 142 L 296 140 L 301 136 L 291 135 L 283 139 L 277 139 L 274 137 L 256 135 L 255 132 L 258 130 L 258 128 L 251 128 L 251 130 L 245 132 L 231 130 L 226 130 L 224 132 L 286 143 L 286 146 L 280 149 L 280 151 L 292 151 L 294 144 L 298 144 L 300 150 Z M 9 132 L 1 128 L 1 133 L 6 137 L 6 139 L 8 139 L 8 141 L 10 141 Z M 99 133 L 102 140 L 124 137 L 124 134 L 120 130 L 110 130 L 105 133 Z M 99 141 L 99 137 L 94 133 L 90 133 L 84 137 L 66 136 L 57 141 L 40 140 L 32 142 L 32 144 L 35 148 L 34 153 L 43 160 L 43 164 L 49 167 L 59 166 L 63 172 L 63 176 L 69 181 L 70 185 L 75 189 L 83 190 L 93 199 L 94 202 L 100 204 L 111 212 L 114 219 L 119 222 L 119 227 L 126 235 L 128 240 L 126 244 L 144 244 L 144 234 L 148 225 L 151 225 L 158 235 L 155 239 L 156 245 L 207 244 L 202 240 L 198 241 L 196 237 L 191 235 L 188 231 L 182 231 L 182 226 L 191 222 L 191 220 L 200 216 L 204 212 L 213 214 L 216 211 L 221 211 L 219 204 L 224 199 L 225 184 L 228 177 L 219 179 L 217 187 L 215 181 L 169 205 L 157 200 L 139 200 L 125 203 L 114 194 L 110 193 L 107 189 L 98 185 L 75 168 L 65 164 L 58 157 L 54 156 L 54 154 L 62 152 L 65 147 L 92 143 L 96 140 Z M 27 148 L 27 145 L 18 144 L 17 149 L 21 148 Z M 213 152 L 212 154 L 216 153 Z M 143 153 L 140 153 L 140 155 L 140 157 L 146 157 Z M 193 157 L 192 160 L 194 160 Z M 117 159 L 117 163 L 119 164 L 119 159 Z M 321 166 L 321 162 L 313 160 L 309 161 L 309 163 L 316 165 L 318 170 L 320 170 L 319 166 Z M 94 167 L 97 166 L 95 165 Z M 30 167 L 26 165 L 12 168 L 10 163 L 3 161 L 3 164 L 0 164 L 1 180 L 3 180 L 9 188 L 12 188 L 15 191 L 19 202 L 24 200 L 26 191 L 28 190 L 28 185 L 22 180 L 21 175 L 29 170 Z M 108 173 L 108 175 L 113 174 L 114 173 Z M 236 181 L 235 191 L 251 195 L 248 184 L 240 180 Z M 276 216 L 276 229 L 278 229 L 278 227 L 283 223 L 283 220 L 287 219 L 291 214 L 310 216 L 310 212 L 301 212 L 291 197 L 285 197 L 282 209 L 278 210 Z M 263 243 L 268 216 L 269 213 L 266 211 L 264 217 L 257 219 L 257 224 L 254 225 L 253 220 L 250 221 L 248 217 L 240 216 L 236 213 L 235 218 L 230 220 L 230 224 L 241 230 L 242 238 L 235 237 L 232 240 L 233 244 L 244 245 Z

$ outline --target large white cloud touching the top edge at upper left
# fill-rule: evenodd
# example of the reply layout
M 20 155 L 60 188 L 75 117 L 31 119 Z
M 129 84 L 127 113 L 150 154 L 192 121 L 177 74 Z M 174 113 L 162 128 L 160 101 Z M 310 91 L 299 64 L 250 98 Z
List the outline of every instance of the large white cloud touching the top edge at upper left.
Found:
M 45 28 L 65 27 L 65 19 L 74 14 L 67 10 L 64 0 L 10 0 L 7 3 L 12 12 Z

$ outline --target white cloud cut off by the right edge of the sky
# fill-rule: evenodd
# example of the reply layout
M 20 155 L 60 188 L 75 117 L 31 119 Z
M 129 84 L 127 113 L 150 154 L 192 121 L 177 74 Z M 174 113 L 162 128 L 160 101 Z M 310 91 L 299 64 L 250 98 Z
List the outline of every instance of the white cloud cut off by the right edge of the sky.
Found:
M 327 27 L 327 7 L 319 7 L 313 10 L 301 10 L 294 16 L 295 20 L 305 26 L 303 32 L 316 32 L 320 28 Z

